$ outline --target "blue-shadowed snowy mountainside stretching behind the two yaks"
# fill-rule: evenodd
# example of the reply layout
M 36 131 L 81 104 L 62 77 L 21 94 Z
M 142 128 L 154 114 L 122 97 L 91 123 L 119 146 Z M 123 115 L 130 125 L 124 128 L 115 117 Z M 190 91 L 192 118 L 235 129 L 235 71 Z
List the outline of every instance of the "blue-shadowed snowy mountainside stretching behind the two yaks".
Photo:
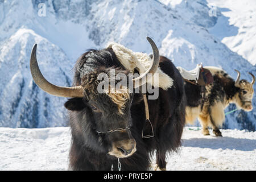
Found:
M 86 49 L 104 48 L 114 41 L 151 53 L 146 36 L 176 66 L 193 69 L 202 62 L 223 68 L 234 78 L 234 69 L 239 69 L 242 78 L 251 80 L 247 72 L 256 75 L 256 67 L 238 51 L 240 47 L 230 48 L 233 43 L 224 41 L 224 36 L 235 36 L 236 31 L 224 34 L 234 26 L 220 1 L 216 0 L 216 15 L 209 16 L 213 2 L 0 0 L 0 126 L 67 126 L 66 99 L 49 96 L 32 82 L 29 59 L 34 43 L 43 74 L 61 86 L 72 84 L 73 65 Z M 220 24 L 227 29 L 222 30 Z M 246 42 L 241 44 L 243 50 Z M 255 118 L 255 110 L 236 111 L 227 116 L 224 128 L 255 131 Z

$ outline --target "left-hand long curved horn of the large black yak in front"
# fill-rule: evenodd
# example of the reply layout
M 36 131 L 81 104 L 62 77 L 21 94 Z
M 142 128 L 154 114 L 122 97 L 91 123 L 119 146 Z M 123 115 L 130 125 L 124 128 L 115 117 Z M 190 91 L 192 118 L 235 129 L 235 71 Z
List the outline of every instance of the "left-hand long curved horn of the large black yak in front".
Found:
M 51 84 L 44 78 L 38 67 L 38 61 L 36 60 L 36 44 L 32 48 L 30 56 L 30 72 L 36 85 L 39 86 L 44 92 L 53 96 L 59 97 L 83 97 L 84 92 L 82 86 L 63 87 Z

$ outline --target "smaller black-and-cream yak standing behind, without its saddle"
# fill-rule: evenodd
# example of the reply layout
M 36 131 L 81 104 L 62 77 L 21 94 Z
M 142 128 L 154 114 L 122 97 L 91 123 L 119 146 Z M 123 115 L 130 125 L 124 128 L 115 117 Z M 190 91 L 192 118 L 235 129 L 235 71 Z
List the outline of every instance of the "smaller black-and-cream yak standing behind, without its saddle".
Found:
M 187 96 L 186 123 L 193 124 L 196 118 L 202 126 L 202 133 L 209 135 L 208 127 L 213 129 L 216 136 L 222 136 L 218 127 L 225 121 L 224 109 L 230 104 L 236 104 L 238 109 L 251 111 L 253 109 L 253 80 L 240 80 L 237 72 L 236 81 L 224 70 L 217 67 L 204 67 L 213 75 L 213 82 L 207 86 L 200 86 L 184 81 Z M 204 90 L 205 89 L 205 90 Z

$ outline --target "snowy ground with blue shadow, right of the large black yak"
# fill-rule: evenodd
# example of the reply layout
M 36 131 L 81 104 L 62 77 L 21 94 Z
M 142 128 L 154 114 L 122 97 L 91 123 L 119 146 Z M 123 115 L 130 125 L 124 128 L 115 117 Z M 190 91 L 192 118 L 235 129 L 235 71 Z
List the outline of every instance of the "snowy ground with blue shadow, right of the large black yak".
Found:
M 214 137 L 196 129 L 185 127 L 180 154 L 169 157 L 168 170 L 256 169 L 256 132 L 220 130 L 223 137 Z

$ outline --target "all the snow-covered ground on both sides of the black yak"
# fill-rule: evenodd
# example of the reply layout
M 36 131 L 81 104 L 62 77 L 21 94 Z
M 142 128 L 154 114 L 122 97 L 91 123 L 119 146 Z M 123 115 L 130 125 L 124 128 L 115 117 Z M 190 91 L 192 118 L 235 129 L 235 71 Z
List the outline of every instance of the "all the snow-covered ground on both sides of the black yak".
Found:
M 255 170 L 256 132 L 221 130 L 203 136 L 185 127 L 179 154 L 168 155 L 167 170 Z M 69 127 L 0 128 L 0 170 L 67 170 Z M 154 159 L 152 160 L 154 163 Z

